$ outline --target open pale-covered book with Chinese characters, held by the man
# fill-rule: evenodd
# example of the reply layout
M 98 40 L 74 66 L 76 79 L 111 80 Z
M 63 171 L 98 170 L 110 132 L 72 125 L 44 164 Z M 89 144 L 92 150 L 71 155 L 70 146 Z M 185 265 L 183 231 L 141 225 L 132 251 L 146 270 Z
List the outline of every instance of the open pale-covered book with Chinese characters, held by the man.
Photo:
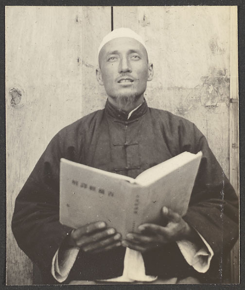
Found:
M 124 238 L 140 224 L 160 224 L 163 206 L 183 216 L 201 157 L 201 151 L 183 152 L 135 179 L 62 158 L 60 222 L 77 228 L 104 221 Z

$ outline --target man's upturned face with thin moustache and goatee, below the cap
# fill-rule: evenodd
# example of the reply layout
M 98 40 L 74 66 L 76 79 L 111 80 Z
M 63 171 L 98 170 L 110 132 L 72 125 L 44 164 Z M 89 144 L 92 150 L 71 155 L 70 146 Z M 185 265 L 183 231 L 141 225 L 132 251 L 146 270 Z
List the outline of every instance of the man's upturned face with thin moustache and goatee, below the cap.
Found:
M 99 64 L 97 78 L 112 103 L 133 103 L 143 98 L 153 68 L 140 42 L 128 37 L 107 42 L 100 51 Z

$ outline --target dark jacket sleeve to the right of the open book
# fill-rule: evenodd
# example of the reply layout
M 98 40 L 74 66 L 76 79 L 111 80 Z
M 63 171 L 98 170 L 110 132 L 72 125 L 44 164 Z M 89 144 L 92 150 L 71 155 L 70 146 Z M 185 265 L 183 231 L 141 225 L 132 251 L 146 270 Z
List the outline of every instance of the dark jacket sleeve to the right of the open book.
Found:
M 201 150 L 203 158 L 184 219 L 210 244 L 215 257 L 229 251 L 238 238 L 238 197 L 205 136 L 194 125 L 193 130 L 194 140 L 189 144 L 194 145 L 189 149 Z

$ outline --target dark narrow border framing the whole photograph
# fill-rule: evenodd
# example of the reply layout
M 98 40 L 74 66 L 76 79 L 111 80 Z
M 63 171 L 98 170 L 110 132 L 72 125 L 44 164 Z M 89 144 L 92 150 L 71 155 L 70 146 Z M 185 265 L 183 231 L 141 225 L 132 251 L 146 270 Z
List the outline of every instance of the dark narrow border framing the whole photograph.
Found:
M 0 269 L 1 269 L 1 289 L 6 285 L 6 129 L 5 129 L 5 7 L 6 5 L 20 6 L 165 6 L 165 5 L 237 5 L 238 6 L 238 57 L 239 57 L 239 133 L 240 133 L 240 284 L 238 285 L 62 285 L 62 289 L 188 289 L 188 290 L 203 290 L 203 289 L 245 289 L 245 1 L 243 0 L 156 0 L 156 1 L 129 1 L 129 0 L 1 0 L 0 1 Z M 60 286 L 7 286 L 10 289 L 33 289 L 34 287 L 45 287 L 53 289 Z M 37 288 L 36 288 L 37 289 Z

